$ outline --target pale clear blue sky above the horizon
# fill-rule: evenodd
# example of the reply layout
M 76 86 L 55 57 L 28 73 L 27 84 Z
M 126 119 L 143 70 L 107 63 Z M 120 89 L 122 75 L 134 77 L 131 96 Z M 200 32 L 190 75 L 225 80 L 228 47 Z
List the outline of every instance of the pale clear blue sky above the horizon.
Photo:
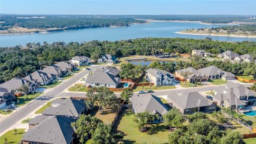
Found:
M 12 1 L 0 0 L 8 14 L 233 14 L 256 15 L 256 0 Z

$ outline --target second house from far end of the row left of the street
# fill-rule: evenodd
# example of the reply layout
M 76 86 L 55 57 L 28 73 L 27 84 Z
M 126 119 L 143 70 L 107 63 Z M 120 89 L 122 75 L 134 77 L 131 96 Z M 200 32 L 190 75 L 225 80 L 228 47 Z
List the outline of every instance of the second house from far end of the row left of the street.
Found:
M 44 68 L 41 71 L 43 73 L 46 73 L 47 76 L 51 79 L 51 81 L 55 81 L 55 79 L 62 76 L 62 71 L 61 71 L 60 67 L 54 66 L 54 65 L 47 66 L 46 68 Z

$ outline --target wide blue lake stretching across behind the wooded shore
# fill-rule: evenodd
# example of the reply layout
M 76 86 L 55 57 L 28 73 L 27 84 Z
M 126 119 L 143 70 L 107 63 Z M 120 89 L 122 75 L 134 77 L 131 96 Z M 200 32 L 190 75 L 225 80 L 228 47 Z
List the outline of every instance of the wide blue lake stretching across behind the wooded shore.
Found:
M 0 35 L 0 46 L 26 45 L 26 43 L 47 43 L 62 42 L 87 42 L 118 41 L 121 39 L 143 38 L 143 37 L 183 37 L 183 38 L 205 38 L 211 37 L 217 41 L 256 41 L 256 38 L 228 37 L 228 36 L 199 36 L 176 34 L 175 32 L 191 29 L 218 27 L 221 25 L 202 25 L 200 23 L 188 22 L 150 22 L 142 25 L 118 28 L 87 28 L 79 30 L 61 31 L 55 33 L 21 34 L 21 35 Z

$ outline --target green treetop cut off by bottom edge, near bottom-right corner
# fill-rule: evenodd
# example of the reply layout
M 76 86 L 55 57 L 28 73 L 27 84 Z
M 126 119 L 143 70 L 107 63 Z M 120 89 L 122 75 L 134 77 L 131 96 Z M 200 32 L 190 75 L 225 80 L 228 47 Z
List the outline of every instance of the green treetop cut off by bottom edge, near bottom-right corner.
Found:
M 226 135 L 224 135 L 221 140 L 221 144 L 243 144 L 245 143 L 244 140 L 242 139 L 242 136 L 239 132 L 234 132 L 234 131 L 228 131 Z

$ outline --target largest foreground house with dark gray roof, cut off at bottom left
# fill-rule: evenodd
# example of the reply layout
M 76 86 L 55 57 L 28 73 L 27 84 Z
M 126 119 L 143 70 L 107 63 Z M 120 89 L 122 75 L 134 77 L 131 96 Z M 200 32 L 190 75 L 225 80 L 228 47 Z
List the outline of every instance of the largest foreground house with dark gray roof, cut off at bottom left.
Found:
M 71 126 L 76 119 L 63 116 L 50 116 L 29 129 L 22 137 L 23 144 L 29 143 L 74 143 L 75 130 Z

